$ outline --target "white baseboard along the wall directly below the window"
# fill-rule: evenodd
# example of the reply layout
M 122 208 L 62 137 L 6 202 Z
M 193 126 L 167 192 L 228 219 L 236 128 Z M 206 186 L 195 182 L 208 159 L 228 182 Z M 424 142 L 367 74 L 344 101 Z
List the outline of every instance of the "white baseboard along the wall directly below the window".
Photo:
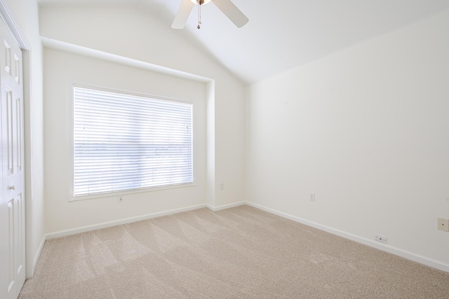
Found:
M 110 227 L 116 226 L 116 225 L 133 223 L 133 222 L 147 220 L 147 219 L 151 219 L 151 218 L 157 218 L 157 217 L 161 217 L 161 216 L 177 214 L 177 213 L 181 213 L 183 211 L 192 211 L 194 209 L 202 209 L 204 207 L 206 207 L 206 204 L 197 204 L 195 206 L 184 207 L 184 208 L 180 208 L 180 209 L 172 209 L 172 210 L 161 211 L 161 212 L 153 213 L 153 214 L 147 214 L 147 215 L 136 216 L 136 217 L 131 217 L 131 218 L 124 218 L 124 219 L 120 219 L 120 220 L 116 220 L 116 221 L 103 222 L 103 223 L 98 223 L 98 224 L 94 224 L 94 225 L 86 225 L 86 226 L 82 226 L 81 228 L 72 228 L 70 230 L 60 230 L 59 232 L 51 232 L 51 233 L 47 234 L 46 239 L 55 239 L 58 237 L 66 237 L 69 235 L 76 235 L 76 234 L 80 234 L 81 232 L 90 232 L 91 230 L 99 230 L 101 228 L 110 228 Z

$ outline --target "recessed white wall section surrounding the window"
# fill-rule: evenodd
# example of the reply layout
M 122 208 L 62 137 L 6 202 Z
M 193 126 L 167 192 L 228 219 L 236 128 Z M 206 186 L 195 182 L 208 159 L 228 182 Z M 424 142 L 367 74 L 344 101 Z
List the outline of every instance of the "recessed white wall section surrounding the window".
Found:
M 206 203 L 206 84 L 49 48 L 44 49 L 46 230 L 96 225 Z M 70 201 L 73 84 L 194 103 L 196 186 Z

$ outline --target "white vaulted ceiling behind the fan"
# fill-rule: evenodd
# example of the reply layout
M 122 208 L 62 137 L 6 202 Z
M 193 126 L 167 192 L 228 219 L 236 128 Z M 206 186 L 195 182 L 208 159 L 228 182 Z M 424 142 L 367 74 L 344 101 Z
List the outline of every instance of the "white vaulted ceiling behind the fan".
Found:
M 132 5 L 170 27 L 182 0 L 39 0 L 40 5 Z M 235 27 L 210 2 L 187 39 L 212 54 L 244 83 L 255 83 L 449 9 L 447 0 L 232 0 L 249 18 Z M 173 29 L 175 30 L 175 29 Z

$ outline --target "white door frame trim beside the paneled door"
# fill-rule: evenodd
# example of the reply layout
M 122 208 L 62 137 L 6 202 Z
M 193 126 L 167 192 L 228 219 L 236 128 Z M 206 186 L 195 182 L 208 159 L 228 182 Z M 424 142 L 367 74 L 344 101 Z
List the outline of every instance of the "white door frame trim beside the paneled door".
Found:
M 16 26 L 13 15 L 4 0 L 0 0 L 0 18 L 4 20 L 11 34 L 22 50 L 23 68 L 23 134 L 24 134 L 24 174 L 25 174 L 25 278 L 34 275 L 33 252 L 33 200 L 32 200 L 32 155 L 31 155 L 31 53 L 26 36 Z

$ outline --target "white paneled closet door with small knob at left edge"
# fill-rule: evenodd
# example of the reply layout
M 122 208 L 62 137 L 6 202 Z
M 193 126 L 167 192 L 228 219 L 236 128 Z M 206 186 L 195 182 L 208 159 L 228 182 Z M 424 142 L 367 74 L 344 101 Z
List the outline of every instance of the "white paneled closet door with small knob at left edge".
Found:
M 25 281 L 22 51 L 0 18 L 0 298 L 17 298 Z

